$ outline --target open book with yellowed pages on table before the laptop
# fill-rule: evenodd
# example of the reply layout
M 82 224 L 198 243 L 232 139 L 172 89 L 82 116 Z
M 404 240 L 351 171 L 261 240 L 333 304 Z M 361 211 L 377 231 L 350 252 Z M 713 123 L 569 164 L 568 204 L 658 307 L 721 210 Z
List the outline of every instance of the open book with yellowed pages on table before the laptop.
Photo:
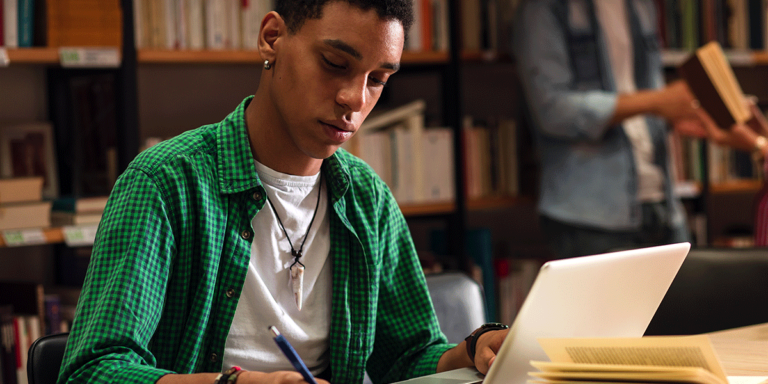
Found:
M 709 337 L 542 338 L 552 362 L 532 361 L 529 383 L 757 384 L 768 377 L 726 377 Z

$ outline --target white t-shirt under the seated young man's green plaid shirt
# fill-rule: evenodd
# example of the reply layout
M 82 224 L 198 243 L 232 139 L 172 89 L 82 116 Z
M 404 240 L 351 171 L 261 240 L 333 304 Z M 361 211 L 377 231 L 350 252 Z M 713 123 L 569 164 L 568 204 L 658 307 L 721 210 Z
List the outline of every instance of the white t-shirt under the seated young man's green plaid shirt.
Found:
M 315 212 L 320 174 L 287 175 L 258 162 L 256 170 L 298 250 Z M 291 246 L 269 202 L 251 220 L 251 262 L 224 347 L 224 369 L 238 365 L 249 371 L 292 371 L 293 366 L 267 330 L 270 325 L 288 339 L 313 374 L 329 366 L 332 265 L 328 257 L 331 232 L 326 185 L 323 180 L 320 205 L 300 259 L 305 265 L 301 311 L 288 269 L 294 261 Z

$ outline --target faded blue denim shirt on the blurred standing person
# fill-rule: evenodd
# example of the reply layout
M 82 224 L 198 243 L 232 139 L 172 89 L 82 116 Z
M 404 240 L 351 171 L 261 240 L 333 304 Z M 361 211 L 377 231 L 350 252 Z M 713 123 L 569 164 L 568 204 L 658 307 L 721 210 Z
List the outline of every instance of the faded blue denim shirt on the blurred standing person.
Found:
M 664 84 L 654 0 L 627 0 L 638 89 Z M 541 155 L 539 212 L 607 230 L 641 224 L 632 145 L 609 126 L 617 93 L 592 0 L 530 0 L 513 37 L 534 137 Z M 665 171 L 670 221 L 685 225 L 669 178 L 665 122 L 647 117 L 654 162 Z

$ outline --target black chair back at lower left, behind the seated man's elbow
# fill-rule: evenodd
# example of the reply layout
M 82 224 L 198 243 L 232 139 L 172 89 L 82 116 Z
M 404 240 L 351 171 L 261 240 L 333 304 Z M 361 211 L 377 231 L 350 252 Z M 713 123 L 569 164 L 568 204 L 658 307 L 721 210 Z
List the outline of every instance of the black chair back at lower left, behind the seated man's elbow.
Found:
M 56 384 L 68 337 L 68 333 L 58 333 L 43 336 L 32 343 L 27 359 L 29 384 Z

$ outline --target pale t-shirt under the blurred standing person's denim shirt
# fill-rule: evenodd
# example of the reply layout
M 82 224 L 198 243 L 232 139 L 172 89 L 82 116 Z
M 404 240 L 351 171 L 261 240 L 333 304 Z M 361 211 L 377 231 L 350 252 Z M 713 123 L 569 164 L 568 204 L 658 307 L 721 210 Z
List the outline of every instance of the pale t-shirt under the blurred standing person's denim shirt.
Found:
M 608 54 L 619 94 L 637 92 L 635 84 L 635 54 L 632 33 L 624 0 L 596 0 L 597 19 L 605 32 Z M 648 133 L 644 115 L 622 122 L 624 132 L 632 143 L 637 167 L 637 197 L 642 202 L 664 200 L 664 173 L 653 163 L 653 142 Z

